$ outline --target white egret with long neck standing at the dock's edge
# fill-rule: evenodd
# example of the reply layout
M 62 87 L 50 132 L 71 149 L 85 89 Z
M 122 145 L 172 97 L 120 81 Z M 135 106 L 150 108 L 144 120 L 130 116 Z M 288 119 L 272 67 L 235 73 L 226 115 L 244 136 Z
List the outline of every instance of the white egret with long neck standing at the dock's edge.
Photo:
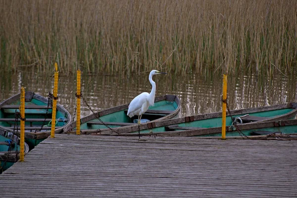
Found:
M 156 94 L 156 83 L 152 80 L 153 75 L 157 74 L 167 74 L 165 72 L 160 72 L 157 70 L 152 70 L 149 73 L 148 80 L 151 84 L 151 91 L 141 93 L 137 97 L 135 97 L 129 104 L 128 113 L 129 117 L 133 117 L 134 115 L 138 115 L 138 125 L 140 125 L 141 116 L 148 110 L 149 106 L 154 105 L 154 97 Z M 140 132 L 139 132 L 140 137 Z

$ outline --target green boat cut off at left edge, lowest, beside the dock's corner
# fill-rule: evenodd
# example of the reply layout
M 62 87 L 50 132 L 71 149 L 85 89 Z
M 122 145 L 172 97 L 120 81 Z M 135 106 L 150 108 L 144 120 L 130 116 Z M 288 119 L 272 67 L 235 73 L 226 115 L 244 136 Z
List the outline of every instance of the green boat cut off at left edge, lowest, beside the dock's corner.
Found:
M 19 159 L 19 151 L 20 139 L 13 133 L 0 129 L 0 174 Z M 25 154 L 29 152 L 29 146 L 26 143 L 24 152 Z

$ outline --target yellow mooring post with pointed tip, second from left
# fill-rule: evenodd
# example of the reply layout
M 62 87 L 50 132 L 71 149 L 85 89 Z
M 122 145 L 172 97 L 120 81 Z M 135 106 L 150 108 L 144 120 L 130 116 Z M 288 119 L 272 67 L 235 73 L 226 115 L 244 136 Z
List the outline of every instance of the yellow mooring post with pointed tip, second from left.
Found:
M 53 83 L 53 101 L 52 101 L 52 114 L 51 114 L 51 131 L 50 138 L 54 138 L 54 128 L 55 128 L 55 115 L 56 115 L 56 107 L 57 107 L 57 95 L 58 95 L 58 65 L 54 63 L 54 83 Z

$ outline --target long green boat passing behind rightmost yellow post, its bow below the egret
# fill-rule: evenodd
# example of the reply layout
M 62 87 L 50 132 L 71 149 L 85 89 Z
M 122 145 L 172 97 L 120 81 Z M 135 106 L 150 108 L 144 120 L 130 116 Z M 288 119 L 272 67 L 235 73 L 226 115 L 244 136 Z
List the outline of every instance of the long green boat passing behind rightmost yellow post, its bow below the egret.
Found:
M 236 118 L 242 122 L 240 125 L 247 123 L 257 123 L 264 121 L 276 121 L 282 119 L 295 119 L 297 114 L 297 103 L 286 103 L 271 106 L 261 106 L 246 109 L 231 110 L 227 112 L 226 126 L 231 126 Z M 141 135 L 149 135 L 150 131 L 156 136 L 192 136 L 191 132 L 198 130 L 213 131 L 213 128 L 221 128 L 222 112 L 199 114 L 169 120 L 155 121 L 142 124 L 140 128 Z M 206 129 L 205 129 L 206 128 Z M 181 133 L 183 131 L 183 133 Z M 121 129 L 97 133 L 97 135 L 118 135 L 136 136 L 138 135 L 138 126 L 127 126 Z M 169 135 L 171 134 L 171 135 Z M 176 135 L 174 135 L 176 134 Z M 179 135 L 178 135 L 179 134 Z M 94 134 L 95 135 L 95 134 Z

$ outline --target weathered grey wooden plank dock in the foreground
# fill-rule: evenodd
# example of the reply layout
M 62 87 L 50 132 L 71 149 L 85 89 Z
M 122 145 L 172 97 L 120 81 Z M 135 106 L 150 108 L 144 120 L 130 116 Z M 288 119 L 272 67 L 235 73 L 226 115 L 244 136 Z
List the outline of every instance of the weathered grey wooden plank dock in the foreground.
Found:
M 297 141 L 56 135 L 0 175 L 1 198 L 296 198 Z

